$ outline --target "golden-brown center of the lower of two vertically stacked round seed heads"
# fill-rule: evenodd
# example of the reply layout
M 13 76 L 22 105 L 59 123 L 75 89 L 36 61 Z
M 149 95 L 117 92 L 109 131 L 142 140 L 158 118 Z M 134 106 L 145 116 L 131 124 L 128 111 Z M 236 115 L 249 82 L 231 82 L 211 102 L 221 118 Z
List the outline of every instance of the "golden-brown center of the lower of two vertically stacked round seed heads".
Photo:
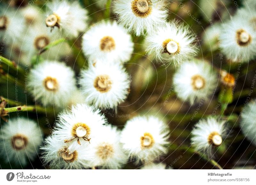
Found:
M 107 93 L 110 91 L 112 86 L 112 81 L 108 75 L 100 75 L 94 80 L 94 87 L 100 93 Z

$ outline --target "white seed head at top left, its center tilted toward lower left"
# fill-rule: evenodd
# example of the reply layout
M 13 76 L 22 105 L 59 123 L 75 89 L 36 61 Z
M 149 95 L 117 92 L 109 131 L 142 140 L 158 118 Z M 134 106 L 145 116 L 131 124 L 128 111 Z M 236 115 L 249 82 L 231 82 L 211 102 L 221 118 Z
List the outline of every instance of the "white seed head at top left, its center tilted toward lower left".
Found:
M 68 1 L 52 1 L 47 4 L 48 17 L 45 19 L 46 26 L 58 27 L 63 30 L 64 36 L 68 38 L 78 37 L 83 32 L 88 20 L 87 10 L 83 9 L 78 2 L 72 4 Z

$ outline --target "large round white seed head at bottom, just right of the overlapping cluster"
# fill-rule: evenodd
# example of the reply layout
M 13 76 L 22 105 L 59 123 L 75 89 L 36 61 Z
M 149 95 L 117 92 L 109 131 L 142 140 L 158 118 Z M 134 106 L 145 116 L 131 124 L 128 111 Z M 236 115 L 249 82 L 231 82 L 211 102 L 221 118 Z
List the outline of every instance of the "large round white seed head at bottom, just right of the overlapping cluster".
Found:
M 160 119 L 149 116 L 129 120 L 120 141 L 131 159 L 146 163 L 167 153 L 168 139 L 168 126 Z

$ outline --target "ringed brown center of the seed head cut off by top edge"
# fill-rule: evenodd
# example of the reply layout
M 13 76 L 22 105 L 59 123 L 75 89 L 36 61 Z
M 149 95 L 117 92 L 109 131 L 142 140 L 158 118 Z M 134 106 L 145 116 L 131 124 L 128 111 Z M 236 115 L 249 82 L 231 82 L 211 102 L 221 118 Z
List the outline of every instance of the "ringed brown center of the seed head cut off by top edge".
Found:
M 150 0 L 134 0 L 132 1 L 132 12 L 135 16 L 145 18 L 152 11 Z

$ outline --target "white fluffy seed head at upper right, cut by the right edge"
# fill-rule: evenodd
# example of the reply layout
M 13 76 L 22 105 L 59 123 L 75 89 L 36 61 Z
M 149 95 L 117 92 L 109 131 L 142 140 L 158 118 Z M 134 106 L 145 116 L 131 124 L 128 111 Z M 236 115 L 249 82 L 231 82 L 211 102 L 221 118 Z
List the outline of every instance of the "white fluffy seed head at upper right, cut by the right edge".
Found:
M 256 57 L 256 30 L 245 19 L 236 16 L 223 24 L 220 47 L 231 62 L 249 62 Z

